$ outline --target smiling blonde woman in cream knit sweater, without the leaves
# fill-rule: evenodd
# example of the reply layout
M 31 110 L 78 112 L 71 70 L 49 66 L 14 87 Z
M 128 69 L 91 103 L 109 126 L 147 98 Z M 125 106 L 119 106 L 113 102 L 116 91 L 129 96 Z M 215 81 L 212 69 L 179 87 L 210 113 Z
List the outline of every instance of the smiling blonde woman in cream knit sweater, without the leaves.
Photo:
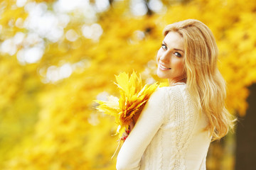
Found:
M 170 86 L 151 95 L 117 157 L 117 169 L 206 169 L 212 140 L 233 126 L 210 29 L 189 19 L 164 28 L 157 75 Z

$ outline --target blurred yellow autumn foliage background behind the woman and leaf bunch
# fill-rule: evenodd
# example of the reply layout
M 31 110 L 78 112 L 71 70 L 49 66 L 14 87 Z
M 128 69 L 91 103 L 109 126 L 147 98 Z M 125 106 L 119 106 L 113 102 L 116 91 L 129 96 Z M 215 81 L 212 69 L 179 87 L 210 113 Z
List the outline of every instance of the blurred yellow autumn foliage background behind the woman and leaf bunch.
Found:
M 1 0 L 0 169 L 115 169 L 114 119 L 93 100 L 118 96 L 114 74 L 156 77 L 169 24 L 213 31 L 235 132 L 210 145 L 208 170 L 256 167 L 253 0 Z

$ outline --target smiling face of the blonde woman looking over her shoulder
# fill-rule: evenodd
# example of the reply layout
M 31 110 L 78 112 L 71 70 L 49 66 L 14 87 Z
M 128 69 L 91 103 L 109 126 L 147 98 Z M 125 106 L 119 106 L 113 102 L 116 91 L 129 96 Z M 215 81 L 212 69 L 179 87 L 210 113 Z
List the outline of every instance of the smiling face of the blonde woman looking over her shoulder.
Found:
M 176 32 L 169 32 L 157 53 L 157 75 L 169 79 L 170 84 L 181 82 L 186 77 L 184 72 L 183 38 Z

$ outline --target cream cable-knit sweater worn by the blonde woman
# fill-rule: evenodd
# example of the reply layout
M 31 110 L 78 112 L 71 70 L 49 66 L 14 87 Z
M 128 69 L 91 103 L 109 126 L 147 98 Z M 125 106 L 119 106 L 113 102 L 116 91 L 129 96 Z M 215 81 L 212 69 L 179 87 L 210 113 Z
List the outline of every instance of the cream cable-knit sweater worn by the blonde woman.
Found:
M 206 125 L 186 84 L 159 88 L 122 145 L 117 170 L 206 169 L 211 140 Z

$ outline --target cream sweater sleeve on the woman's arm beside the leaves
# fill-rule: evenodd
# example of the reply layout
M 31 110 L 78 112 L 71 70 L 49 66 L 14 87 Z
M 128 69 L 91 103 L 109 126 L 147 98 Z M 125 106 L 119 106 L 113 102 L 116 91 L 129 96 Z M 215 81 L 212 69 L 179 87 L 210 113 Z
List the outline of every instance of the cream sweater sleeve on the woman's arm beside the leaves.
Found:
M 136 125 L 117 156 L 117 170 L 137 170 L 146 147 L 164 123 L 167 114 L 166 89 L 159 88 L 147 101 Z

